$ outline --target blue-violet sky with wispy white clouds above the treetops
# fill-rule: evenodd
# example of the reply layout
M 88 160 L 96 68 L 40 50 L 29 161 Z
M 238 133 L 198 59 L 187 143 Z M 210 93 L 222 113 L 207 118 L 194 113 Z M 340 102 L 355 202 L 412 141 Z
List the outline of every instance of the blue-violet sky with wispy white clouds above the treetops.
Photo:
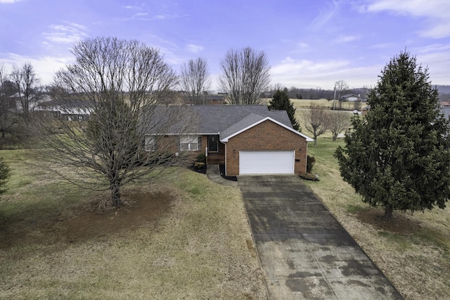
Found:
M 229 49 L 264 51 L 273 84 L 373 87 L 409 51 L 435 85 L 450 85 L 449 0 L 0 0 L 0 63 L 32 63 L 41 82 L 73 62 L 81 39 L 139 39 L 179 70 Z

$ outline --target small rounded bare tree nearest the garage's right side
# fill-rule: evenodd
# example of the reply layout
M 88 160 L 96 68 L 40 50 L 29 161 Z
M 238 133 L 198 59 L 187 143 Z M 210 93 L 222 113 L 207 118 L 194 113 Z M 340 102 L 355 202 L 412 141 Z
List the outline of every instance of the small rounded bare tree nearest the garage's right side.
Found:
M 317 144 L 317 137 L 323 135 L 330 125 L 330 111 L 325 107 L 311 102 L 311 108 L 303 111 L 304 127 L 314 136 L 314 146 Z

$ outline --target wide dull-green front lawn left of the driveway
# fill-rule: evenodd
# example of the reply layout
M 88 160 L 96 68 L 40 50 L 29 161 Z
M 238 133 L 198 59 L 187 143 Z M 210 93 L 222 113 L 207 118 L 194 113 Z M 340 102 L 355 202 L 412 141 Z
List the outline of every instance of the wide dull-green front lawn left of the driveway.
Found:
M 265 299 L 237 187 L 169 168 L 123 191 L 125 205 L 0 151 L 13 177 L 0 199 L 0 299 Z

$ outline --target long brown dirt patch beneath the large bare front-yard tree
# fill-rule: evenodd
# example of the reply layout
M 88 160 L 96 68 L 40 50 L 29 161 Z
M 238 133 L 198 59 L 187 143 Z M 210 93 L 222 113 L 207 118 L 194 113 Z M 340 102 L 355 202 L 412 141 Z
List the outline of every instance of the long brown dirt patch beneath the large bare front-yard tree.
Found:
M 120 235 L 124 230 L 129 232 L 141 226 L 156 228 L 158 220 L 169 212 L 174 199 L 169 191 L 127 192 L 122 196 L 120 208 L 102 213 L 96 210 L 96 204 L 103 196 L 99 194 L 89 204 L 53 218 L 31 223 L 23 219 L 5 219 L 0 224 L 0 230 L 5 234 L 0 249 L 23 243 L 85 242 Z

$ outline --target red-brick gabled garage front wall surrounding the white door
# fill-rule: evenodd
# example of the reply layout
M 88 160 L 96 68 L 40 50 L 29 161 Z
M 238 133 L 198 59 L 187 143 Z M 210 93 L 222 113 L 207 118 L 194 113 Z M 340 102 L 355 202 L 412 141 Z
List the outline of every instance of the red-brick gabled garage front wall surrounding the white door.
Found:
M 304 137 L 266 120 L 226 143 L 226 175 L 239 175 L 240 150 L 295 150 L 294 172 L 304 174 L 307 170 L 307 149 Z

